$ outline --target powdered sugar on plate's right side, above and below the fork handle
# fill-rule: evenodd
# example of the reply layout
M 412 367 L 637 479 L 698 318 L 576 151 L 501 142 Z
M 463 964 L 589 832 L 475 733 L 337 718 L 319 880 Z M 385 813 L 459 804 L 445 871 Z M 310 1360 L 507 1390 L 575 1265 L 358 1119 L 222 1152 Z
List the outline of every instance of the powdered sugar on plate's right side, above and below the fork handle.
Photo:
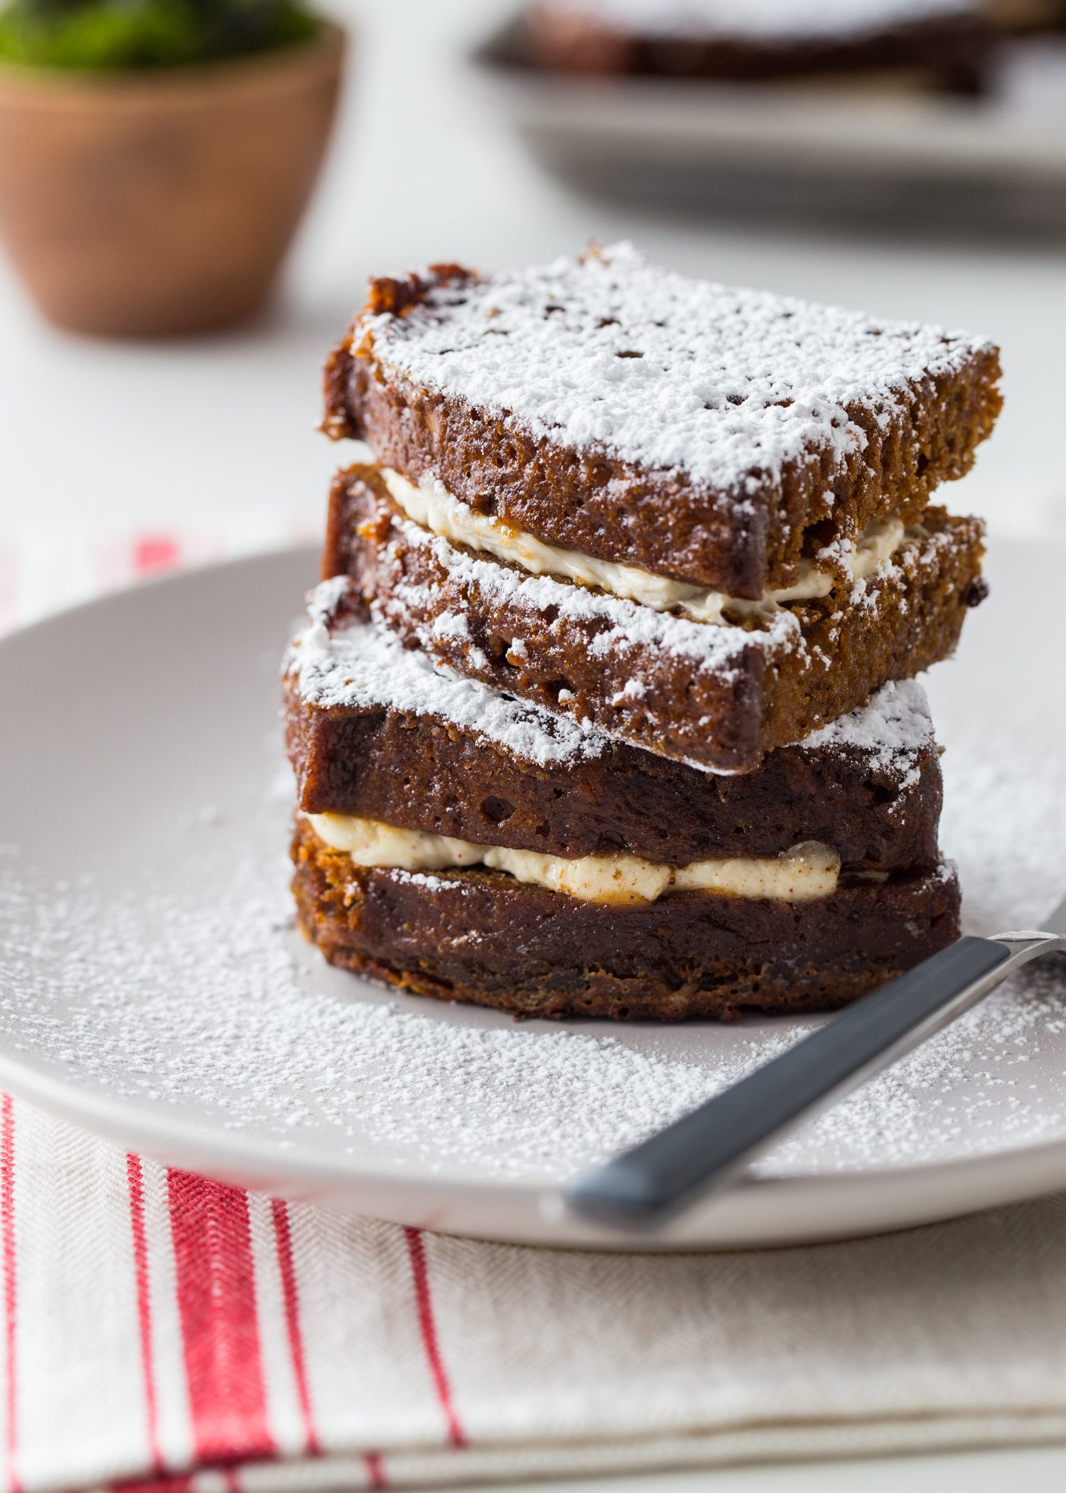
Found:
M 1066 763 L 981 742 L 942 761 L 941 845 L 959 863 L 963 932 L 1039 927 L 1066 896 Z M 806 1171 L 915 1165 L 1066 1138 L 1066 959 L 1030 964 L 932 1042 L 767 1159 Z M 766 1169 L 766 1163 L 763 1166 Z

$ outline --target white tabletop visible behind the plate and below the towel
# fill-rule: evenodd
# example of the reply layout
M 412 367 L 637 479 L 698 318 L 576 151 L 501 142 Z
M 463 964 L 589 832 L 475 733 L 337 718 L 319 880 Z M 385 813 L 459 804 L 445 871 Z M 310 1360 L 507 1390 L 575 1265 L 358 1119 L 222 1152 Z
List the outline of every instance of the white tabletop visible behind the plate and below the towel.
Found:
M 45 325 L 0 261 L 0 542 L 216 524 L 243 548 L 314 533 L 339 452 L 315 434 L 318 367 L 370 272 L 428 260 L 485 267 L 633 239 L 705 275 L 963 325 L 1003 349 L 1006 411 L 951 491 L 994 533 L 1066 539 L 1060 446 L 1066 252 L 906 246 L 745 233 L 693 215 L 582 200 L 530 164 L 457 58 L 508 0 L 333 0 L 358 31 L 321 191 L 282 293 L 239 333 L 113 343 Z M 1066 1448 L 788 1463 L 596 1478 L 602 1493 L 1059 1490 Z M 555 1484 L 590 1489 L 590 1481 Z

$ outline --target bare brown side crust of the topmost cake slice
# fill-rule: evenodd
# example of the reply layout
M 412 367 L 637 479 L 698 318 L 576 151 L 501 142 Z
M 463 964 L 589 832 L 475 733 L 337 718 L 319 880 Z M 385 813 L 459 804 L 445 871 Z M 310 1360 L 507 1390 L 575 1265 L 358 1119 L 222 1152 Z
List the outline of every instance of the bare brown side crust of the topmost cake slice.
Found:
M 470 278 L 460 266 L 439 272 L 372 281 L 364 315 L 402 312 L 428 290 Z M 941 482 L 969 472 L 1002 408 L 999 376 L 997 349 L 979 346 L 957 372 L 911 381 L 906 408 L 845 405 L 866 436 L 863 451 L 842 461 L 803 452 L 779 484 L 751 475 L 742 502 L 682 470 L 554 445 L 514 415 L 420 388 L 373 357 L 360 321 L 325 364 L 322 428 L 367 440 L 412 482 L 433 472 L 472 508 L 548 543 L 755 600 L 764 588 L 793 585 L 803 554 L 885 514 L 912 523 Z

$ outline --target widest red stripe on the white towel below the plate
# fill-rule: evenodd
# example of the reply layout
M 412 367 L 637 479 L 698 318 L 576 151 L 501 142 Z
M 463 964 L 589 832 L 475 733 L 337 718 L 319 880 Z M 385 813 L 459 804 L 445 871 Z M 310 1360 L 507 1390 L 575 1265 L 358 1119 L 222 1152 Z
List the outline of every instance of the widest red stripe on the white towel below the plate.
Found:
M 196 1459 L 270 1457 L 248 1197 L 178 1171 L 167 1196 Z

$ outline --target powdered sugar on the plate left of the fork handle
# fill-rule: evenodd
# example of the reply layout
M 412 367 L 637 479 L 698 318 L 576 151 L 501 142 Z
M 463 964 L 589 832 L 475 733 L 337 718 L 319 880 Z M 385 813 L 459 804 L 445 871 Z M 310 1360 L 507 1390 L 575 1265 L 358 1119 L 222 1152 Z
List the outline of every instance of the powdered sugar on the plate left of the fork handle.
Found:
M 90 885 L 42 896 L 1 878 L 7 1044 L 43 1048 L 82 1082 L 154 1103 L 193 1100 L 228 1129 L 282 1144 L 327 1132 L 334 1150 L 358 1153 L 370 1136 L 396 1165 L 511 1176 L 567 1165 L 567 1150 L 606 1154 L 715 1081 L 702 1065 L 632 1051 L 609 1033 L 451 1024 L 433 1008 L 363 1003 L 349 976 L 336 984 L 355 999 L 325 994 L 314 978 L 308 988 L 302 964 L 322 970 L 291 933 L 285 867 L 264 872 L 245 857 L 231 872 L 209 900 L 102 902 Z

